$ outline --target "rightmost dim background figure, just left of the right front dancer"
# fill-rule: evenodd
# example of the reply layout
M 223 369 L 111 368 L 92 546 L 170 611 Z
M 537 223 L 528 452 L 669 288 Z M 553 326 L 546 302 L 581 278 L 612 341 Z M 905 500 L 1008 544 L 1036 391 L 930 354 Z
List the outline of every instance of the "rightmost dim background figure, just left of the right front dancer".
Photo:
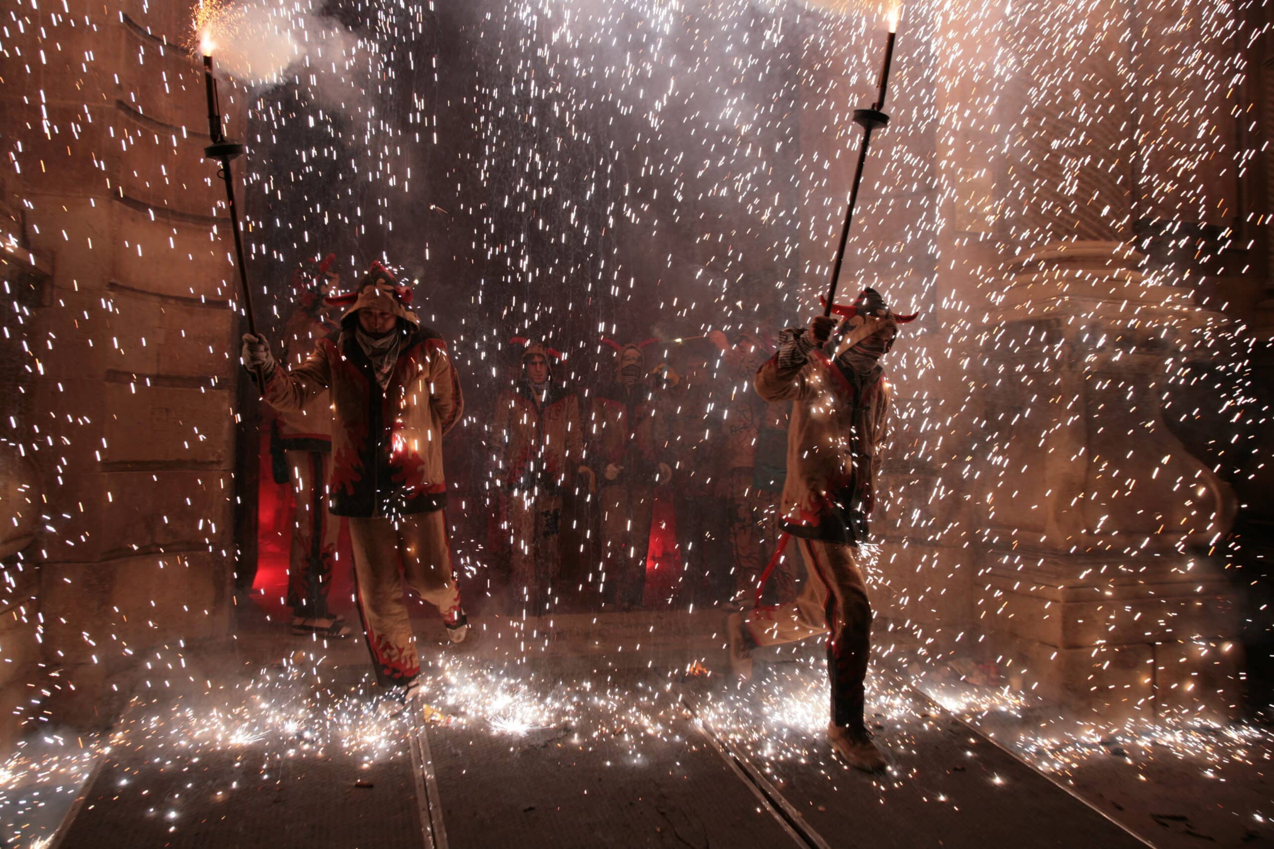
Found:
M 761 573 L 778 540 L 778 491 L 787 456 L 789 402 L 771 402 L 750 391 L 750 383 L 773 350 L 768 333 L 745 332 L 726 351 L 725 363 L 739 382 L 730 396 L 725 420 L 727 514 L 734 565 L 734 598 L 739 610 L 752 603 Z M 796 597 L 796 565 L 781 558 L 769 575 L 773 601 Z

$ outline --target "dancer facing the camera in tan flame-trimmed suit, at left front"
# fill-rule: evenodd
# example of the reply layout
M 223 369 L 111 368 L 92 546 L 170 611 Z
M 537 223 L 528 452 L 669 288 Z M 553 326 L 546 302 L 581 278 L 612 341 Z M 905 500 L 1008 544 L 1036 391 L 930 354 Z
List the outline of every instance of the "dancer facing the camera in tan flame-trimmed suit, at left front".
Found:
M 382 686 L 415 690 L 420 662 L 403 600 L 403 577 L 442 614 L 447 635 L 469 629 L 451 565 L 443 505 L 442 437 L 464 400 L 442 337 L 409 309 L 412 290 L 372 263 L 355 291 L 329 298 L 348 307 L 340 335 L 320 340 L 306 361 L 278 368 L 262 339 L 243 335 L 243 364 L 264 375 L 276 410 L 331 396 L 329 508 L 349 518 L 358 611 Z

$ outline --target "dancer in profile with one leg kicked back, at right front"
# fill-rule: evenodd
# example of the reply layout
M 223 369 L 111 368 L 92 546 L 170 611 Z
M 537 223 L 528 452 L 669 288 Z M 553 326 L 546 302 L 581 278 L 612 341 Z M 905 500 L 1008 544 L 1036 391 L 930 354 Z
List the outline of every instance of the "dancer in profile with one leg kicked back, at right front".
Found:
M 785 330 L 777 353 L 757 370 L 762 398 L 792 402 L 778 552 L 795 538 L 808 574 L 794 602 L 758 603 L 730 616 L 730 664 L 747 678 L 754 647 L 827 634 L 828 740 L 846 761 L 875 771 L 884 768 L 884 756 L 862 718 L 871 606 L 859 546 L 868 541 L 889 411 L 879 360 L 893 346 L 898 325 L 915 316 L 896 316 L 874 289 L 833 312 L 845 317 L 834 358 L 822 349 L 837 319 L 817 316 L 809 327 Z

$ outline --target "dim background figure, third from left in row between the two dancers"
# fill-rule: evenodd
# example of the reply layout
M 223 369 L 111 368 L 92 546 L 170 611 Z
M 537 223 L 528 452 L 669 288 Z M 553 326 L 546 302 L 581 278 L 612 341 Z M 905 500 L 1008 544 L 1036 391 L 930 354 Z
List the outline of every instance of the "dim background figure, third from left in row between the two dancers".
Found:
M 676 476 L 673 510 L 682 558 L 682 600 L 715 605 L 733 591 L 729 482 L 722 463 L 724 414 L 713 379 L 721 350 L 707 337 L 688 339 L 671 351 L 671 379 L 660 393 L 660 429 L 668 438 L 669 465 Z

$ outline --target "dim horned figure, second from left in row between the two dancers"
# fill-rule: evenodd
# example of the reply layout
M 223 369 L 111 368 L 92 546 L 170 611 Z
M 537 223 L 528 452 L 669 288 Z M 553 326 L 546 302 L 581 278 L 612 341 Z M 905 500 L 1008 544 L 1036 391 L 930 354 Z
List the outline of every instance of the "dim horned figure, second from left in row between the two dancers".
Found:
M 615 379 L 598 391 L 592 405 L 592 465 L 601 488 L 601 545 L 605 574 L 614 575 L 620 610 L 641 607 L 646 591 L 646 554 L 655 507 L 655 485 L 673 472 L 656 448 L 655 406 L 646 382 L 643 349 L 655 342 L 620 345 Z

